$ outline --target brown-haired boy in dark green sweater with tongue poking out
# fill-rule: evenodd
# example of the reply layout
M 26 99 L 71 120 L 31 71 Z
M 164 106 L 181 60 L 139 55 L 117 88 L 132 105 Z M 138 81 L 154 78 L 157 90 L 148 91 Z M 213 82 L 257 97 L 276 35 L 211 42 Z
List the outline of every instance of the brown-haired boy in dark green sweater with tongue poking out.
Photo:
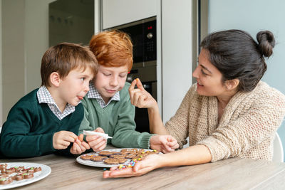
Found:
M 74 43 L 49 48 L 41 60 L 41 88 L 16 102 L 2 127 L 1 154 L 38 157 L 90 149 L 77 134 L 84 115 L 80 101 L 97 69 L 98 62 L 88 48 Z

